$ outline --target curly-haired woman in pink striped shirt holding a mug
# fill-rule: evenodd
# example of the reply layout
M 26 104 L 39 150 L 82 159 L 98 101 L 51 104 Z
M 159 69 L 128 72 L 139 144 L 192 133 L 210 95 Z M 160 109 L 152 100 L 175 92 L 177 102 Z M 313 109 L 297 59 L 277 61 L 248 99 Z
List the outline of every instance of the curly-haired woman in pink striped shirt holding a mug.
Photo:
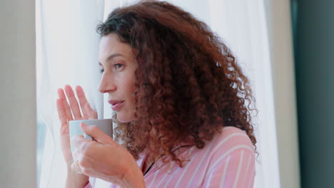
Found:
M 110 187 L 253 187 L 251 88 L 205 23 L 167 2 L 141 1 L 111 12 L 98 33 L 98 90 L 116 111 L 116 142 L 82 124 L 94 141 L 74 137 L 73 159 L 67 122 L 97 113 L 80 86 L 79 103 L 69 85 L 69 104 L 60 88 L 66 187 L 91 187 L 88 177 Z

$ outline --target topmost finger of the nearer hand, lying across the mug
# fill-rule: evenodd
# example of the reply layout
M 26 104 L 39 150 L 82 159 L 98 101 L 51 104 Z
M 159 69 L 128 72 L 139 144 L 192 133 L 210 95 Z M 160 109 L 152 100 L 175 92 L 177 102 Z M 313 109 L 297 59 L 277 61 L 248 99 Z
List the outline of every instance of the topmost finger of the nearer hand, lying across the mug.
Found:
M 99 143 L 113 143 L 113 139 L 106 135 L 100 128 L 94 125 L 86 125 L 85 123 L 80 123 L 81 130 L 86 134 L 90 135 L 96 142 Z

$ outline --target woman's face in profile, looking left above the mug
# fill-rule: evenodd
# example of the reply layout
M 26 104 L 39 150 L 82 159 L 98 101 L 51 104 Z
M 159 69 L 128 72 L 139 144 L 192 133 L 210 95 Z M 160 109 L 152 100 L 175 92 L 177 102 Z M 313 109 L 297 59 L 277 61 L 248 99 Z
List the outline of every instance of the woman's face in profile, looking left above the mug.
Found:
M 116 111 L 120 122 L 135 120 L 135 102 L 133 92 L 136 58 L 131 46 L 122 43 L 116 33 L 110 33 L 101 38 L 98 51 L 98 61 L 102 78 L 98 90 L 108 93 L 108 102 Z

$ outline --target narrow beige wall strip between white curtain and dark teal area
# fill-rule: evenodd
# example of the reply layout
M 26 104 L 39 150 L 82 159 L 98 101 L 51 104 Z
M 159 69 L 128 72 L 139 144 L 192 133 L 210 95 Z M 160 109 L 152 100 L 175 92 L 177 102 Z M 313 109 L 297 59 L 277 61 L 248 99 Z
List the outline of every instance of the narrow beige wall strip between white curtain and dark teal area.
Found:
M 272 62 L 280 187 L 300 187 L 298 122 L 289 0 L 265 0 Z

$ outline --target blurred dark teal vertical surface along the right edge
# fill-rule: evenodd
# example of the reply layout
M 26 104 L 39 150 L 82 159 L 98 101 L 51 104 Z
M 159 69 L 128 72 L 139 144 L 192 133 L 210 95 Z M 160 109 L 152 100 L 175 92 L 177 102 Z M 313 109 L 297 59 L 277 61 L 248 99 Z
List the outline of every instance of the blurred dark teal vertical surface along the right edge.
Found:
M 301 185 L 334 187 L 334 1 L 291 0 Z

